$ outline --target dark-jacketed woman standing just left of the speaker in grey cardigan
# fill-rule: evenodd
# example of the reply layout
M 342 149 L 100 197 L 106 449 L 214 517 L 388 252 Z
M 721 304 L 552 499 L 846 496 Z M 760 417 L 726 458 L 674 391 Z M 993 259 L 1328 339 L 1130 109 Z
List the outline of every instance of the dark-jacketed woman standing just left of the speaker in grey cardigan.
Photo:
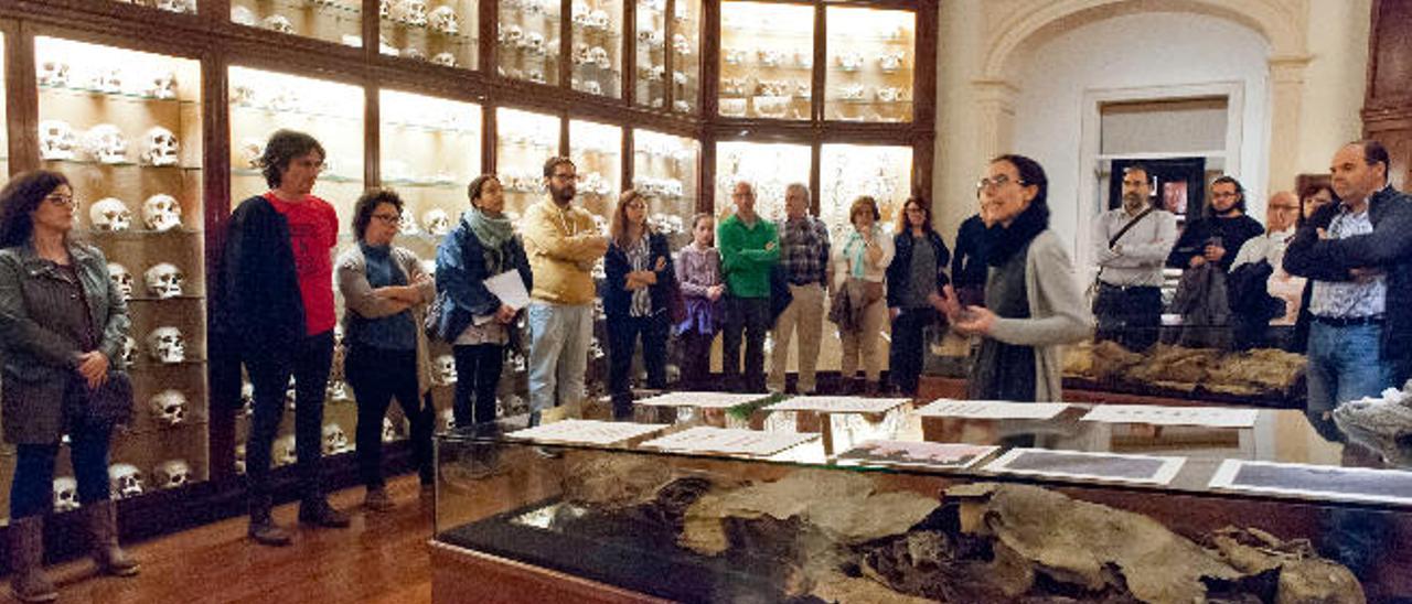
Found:
M 895 254 L 887 267 L 887 306 L 892 318 L 888 374 L 898 391 L 916 397 L 926 326 L 938 319 L 929 298 L 940 295 L 949 282 L 946 262 L 952 258 L 942 236 L 932 229 L 932 209 L 925 199 L 912 196 L 902 205 L 892 247 Z

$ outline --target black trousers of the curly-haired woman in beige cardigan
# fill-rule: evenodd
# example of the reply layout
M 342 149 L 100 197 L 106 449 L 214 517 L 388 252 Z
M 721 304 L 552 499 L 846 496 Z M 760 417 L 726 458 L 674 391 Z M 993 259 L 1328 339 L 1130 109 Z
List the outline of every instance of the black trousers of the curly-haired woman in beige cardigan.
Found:
M 432 484 L 432 408 L 431 392 L 425 397 L 417 382 L 417 351 L 387 350 L 353 344 L 345 361 L 353 398 L 357 399 L 357 466 L 363 484 L 381 488 L 383 480 L 383 419 L 393 398 L 402 405 L 402 415 L 411 423 L 412 457 L 422 484 Z

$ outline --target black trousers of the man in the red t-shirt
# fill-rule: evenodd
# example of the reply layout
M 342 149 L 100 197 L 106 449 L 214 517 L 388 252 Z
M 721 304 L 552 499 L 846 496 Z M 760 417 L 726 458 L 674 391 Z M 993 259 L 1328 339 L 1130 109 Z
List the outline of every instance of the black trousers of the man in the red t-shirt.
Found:
M 299 493 L 304 501 L 323 497 L 323 397 L 333 363 L 333 330 L 301 339 L 294 350 L 246 350 L 241 354 L 256 388 L 250 436 L 246 440 L 246 480 L 251 502 L 268 505 L 270 454 L 280 421 L 284 419 L 284 391 L 289 375 L 295 381 L 294 437 L 299 456 Z

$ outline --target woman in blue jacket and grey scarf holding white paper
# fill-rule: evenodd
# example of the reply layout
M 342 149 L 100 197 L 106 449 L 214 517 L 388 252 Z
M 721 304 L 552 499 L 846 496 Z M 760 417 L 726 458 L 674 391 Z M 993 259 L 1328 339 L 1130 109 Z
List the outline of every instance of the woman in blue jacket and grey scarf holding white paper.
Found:
M 500 179 L 476 176 L 466 195 L 470 209 L 436 248 L 436 291 L 442 298 L 436 332 L 450 342 L 456 356 L 452 413 L 457 426 L 496 421 L 505 346 L 518 346 L 515 318 L 534 285 L 524 244 L 504 215 Z M 505 288 L 505 274 L 518 274 L 524 289 Z

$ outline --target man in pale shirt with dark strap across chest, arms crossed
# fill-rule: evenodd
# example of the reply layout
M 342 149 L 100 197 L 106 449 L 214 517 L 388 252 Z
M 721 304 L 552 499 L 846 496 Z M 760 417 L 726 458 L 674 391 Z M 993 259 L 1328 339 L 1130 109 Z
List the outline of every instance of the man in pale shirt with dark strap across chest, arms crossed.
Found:
M 1176 243 L 1176 216 L 1152 205 L 1152 185 L 1142 165 L 1123 171 L 1123 207 L 1093 222 L 1093 258 L 1099 265 L 1097 340 L 1132 351 L 1156 343 L 1162 326 L 1162 262 Z

